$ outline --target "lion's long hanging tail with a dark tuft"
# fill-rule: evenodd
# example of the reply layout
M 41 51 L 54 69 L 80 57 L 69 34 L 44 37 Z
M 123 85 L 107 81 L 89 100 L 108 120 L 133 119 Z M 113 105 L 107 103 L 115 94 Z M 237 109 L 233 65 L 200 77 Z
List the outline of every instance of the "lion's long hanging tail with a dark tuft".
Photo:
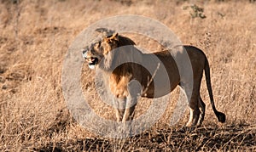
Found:
M 212 110 L 214 111 L 215 115 L 218 117 L 218 121 L 224 123 L 226 121 L 226 115 L 224 115 L 224 113 L 216 110 L 216 107 L 214 104 L 213 95 L 212 95 L 211 78 L 210 78 L 210 67 L 209 67 L 209 62 L 208 62 L 207 58 L 205 61 L 205 75 L 206 75 L 206 80 L 207 80 L 207 89 L 208 89 L 208 93 L 209 93 L 211 104 L 212 104 Z

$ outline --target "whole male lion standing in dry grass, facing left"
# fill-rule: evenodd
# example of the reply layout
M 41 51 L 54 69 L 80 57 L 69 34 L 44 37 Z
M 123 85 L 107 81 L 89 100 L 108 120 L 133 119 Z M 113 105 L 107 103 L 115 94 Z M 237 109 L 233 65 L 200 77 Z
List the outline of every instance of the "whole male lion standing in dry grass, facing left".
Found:
M 189 97 L 189 90 L 186 86 L 189 80 L 186 76 L 179 73 L 179 69 L 169 51 L 161 51 L 158 53 L 142 53 L 128 37 L 119 36 L 118 33 L 108 34 L 108 37 L 103 37 L 100 41 L 92 43 L 83 51 L 84 59 L 88 62 L 91 69 L 99 68 L 103 74 L 109 76 L 108 85 L 113 93 L 114 101 L 117 105 L 116 115 L 117 121 L 130 121 L 133 119 L 135 106 L 138 96 L 145 98 L 158 98 L 171 93 L 172 90 L 180 85 L 184 93 Z M 129 46 L 129 47 L 128 47 Z M 200 87 L 203 70 L 205 70 L 207 88 L 210 96 L 212 109 L 218 117 L 218 121 L 224 122 L 224 113 L 216 110 L 210 81 L 210 68 L 206 55 L 199 48 L 193 46 L 183 46 L 184 51 L 189 55 L 193 73 L 193 91 L 189 98 L 189 121 L 187 127 L 201 126 L 205 116 L 206 105 L 201 99 Z M 157 62 L 157 57 L 160 62 Z M 121 60 L 126 59 L 126 63 Z M 136 62 L 131 62 L 132 59 Z M 121 64 L 120 64 L 121 63 Z M 149 67 L 154 67 L 154 74 L 148 71 L 147 68 L 140 65 L 148 64 Z M 166 75 L 169 78 L 170 87 L 165 87 L 165 81 L 162 81 L 162 87 L 155 89 L 154 76 L 160 76 L 161 70 L 166 70 Z M 160 78 L 161 79 L 161 78 Z

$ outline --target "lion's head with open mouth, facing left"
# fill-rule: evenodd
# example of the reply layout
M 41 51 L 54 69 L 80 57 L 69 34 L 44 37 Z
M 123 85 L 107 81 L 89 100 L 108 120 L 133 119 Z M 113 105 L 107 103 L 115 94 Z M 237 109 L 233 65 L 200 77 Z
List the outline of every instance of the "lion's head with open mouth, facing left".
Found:
M 135 45 L 128 37 L 119 36 L 118 33 L 113 33 L 102 37 L 100 40 L 93 42 L 89 47 L 83 50 L 83 57 L 88 62 L 90 69 L 95 69 L 102 59 L 109 59 L 109 53 L 115 49 L 126 45 Z

